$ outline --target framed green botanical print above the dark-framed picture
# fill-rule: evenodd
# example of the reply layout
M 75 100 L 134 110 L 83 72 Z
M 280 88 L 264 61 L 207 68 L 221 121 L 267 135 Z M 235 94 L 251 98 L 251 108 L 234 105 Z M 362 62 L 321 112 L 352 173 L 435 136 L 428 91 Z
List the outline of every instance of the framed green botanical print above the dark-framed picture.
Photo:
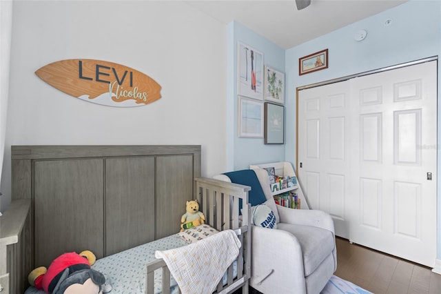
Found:
M 285 74 L 265 66 L 265 100 L 285 103 Z

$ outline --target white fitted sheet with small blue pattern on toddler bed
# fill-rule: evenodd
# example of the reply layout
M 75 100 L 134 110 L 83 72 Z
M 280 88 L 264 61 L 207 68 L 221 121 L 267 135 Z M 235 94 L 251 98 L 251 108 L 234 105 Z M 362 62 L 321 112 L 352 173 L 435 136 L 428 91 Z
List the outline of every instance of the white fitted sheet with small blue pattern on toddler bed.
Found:
M 188 245 L 181 237 L 170 235 L 157 239 L 147 244 L 121 251 L 97 259 L 92 268 L 103 273 L 106 282 L 109 282 L 113 289 L 110 294 L 141 294 L 145 293 L 145 276 L 147 274 L 146 264 L 156 260 L 155 251 L 165 251 Z M 234 262 L 234 276 L 237 274 L 237 262 Z M 155 294 L 161 293 L 162 273 L 160 270 L 154 274 Z M 223 283 L 226 284 L 227 275 L 223 276 Z M 178 293 L 177 283 L 173 277 L 170 281 L 170 293 Z M 43 294 L 42 290 L 29 287 L 25 294 Z

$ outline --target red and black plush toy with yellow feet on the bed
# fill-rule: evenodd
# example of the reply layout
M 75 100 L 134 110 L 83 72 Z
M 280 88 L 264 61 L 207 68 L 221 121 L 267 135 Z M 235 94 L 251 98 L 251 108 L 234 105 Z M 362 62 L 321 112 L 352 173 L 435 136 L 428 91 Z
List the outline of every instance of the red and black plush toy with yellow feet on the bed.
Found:
M 112 290 L 105 284 L 105 277 L 90 266 L 96 257 L 91 251 L 64 253 L 54 259 L 49 268 L 35 268 L 28 275 L 29 284 L 45 293 L 52 294 L 96 294 Z

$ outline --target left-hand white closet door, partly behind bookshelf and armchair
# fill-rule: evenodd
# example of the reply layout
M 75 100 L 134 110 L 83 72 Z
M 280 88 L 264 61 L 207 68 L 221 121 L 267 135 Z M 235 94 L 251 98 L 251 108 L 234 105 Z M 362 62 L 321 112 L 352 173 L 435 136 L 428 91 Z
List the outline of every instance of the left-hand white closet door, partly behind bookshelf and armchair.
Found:
M 311 208 L 329 213 L 336 235 L 349 239 L 349 155 L 353 147 L 349 81 L 302 90 L 298 95 L 299 181 Z

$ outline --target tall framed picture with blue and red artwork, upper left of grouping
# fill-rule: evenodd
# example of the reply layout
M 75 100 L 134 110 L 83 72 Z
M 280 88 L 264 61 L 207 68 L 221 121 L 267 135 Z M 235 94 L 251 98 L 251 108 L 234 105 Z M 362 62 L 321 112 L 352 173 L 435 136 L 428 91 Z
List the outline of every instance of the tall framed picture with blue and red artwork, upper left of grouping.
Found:
M 238 95 L 263 100 L 263 54 L 238 42 Z

